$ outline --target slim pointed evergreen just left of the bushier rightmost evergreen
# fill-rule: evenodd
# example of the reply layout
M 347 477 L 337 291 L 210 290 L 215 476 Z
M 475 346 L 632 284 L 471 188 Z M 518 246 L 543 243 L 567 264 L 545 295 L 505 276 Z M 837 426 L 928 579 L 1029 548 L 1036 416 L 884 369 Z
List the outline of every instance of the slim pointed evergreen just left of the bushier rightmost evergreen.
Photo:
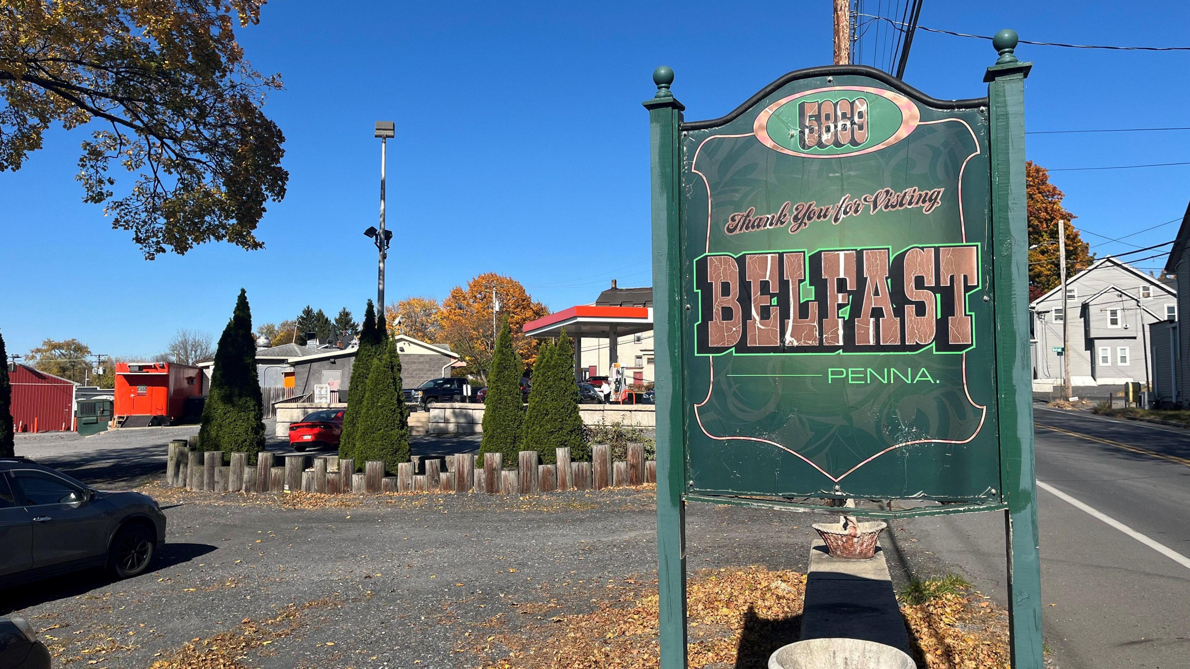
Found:
M 503 454 L 505 463 L 514 463 L 520 451 L 521 426 L 525 421 L 524 398 L 520 392 L 525 364 L 513 350 L 513 333 L 508 318 L 500 326 L 496 350 L 488 374 L 488 396 L 483 399 L 483 439 L 480 455 Z

